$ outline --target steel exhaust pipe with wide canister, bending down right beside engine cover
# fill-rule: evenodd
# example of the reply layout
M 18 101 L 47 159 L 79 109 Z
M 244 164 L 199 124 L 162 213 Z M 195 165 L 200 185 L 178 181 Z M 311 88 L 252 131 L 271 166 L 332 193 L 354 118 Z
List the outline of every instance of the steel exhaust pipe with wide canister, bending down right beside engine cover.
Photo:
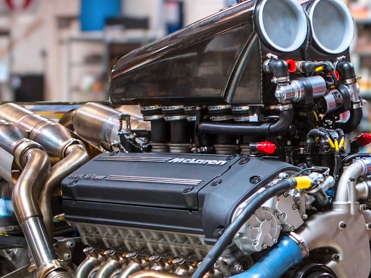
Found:
M 80 140 L 71 137 L 60 123 L 50 121 L 15 103 L 0 105 L 0 118 L 14 123 L 25 136 L 42 145 L 50 156 L 60 161 L 50 170 L 40 195 L 40 207 L 50 240 L 53 239 L 53 215 L 50 200 L 58 192 L 63 178 L 88 162 L 89 155 Z

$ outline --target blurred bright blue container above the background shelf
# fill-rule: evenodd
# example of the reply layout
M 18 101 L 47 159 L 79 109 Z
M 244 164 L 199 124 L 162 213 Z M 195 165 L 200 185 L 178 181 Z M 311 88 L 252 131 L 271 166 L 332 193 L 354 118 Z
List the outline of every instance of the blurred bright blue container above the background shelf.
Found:
M 102 30 L 106 18 L 115 17 L 120 13 L 121 0 L 81 0 L 81 30 Z

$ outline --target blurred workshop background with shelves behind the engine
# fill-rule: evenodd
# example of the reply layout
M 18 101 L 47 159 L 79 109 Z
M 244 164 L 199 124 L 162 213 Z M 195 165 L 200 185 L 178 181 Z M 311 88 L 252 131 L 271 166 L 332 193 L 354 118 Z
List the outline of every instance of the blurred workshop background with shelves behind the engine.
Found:
M 299 1 L 299 0 L 298 0 Z M 371 102 L 371 0 L 344 0 L 356 28 L 352 62 Z M 236 0 L 0 0 L 1 101 L 108 100 L 126 53 Z M 358 131 L 371 130 L 371 105 Z

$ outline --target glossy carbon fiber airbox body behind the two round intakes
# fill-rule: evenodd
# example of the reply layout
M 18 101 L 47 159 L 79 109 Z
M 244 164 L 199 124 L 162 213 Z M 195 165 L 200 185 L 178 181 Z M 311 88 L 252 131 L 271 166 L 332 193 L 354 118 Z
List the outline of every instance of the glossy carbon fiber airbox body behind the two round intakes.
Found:
M 296 19 L 292 24 L 285 24 L 289 9 L 280 13 L 279 5 L 286 0 L 268 1 L 270 11 L 266 11 L 269 13 L 266 25 L 275 26 L 271 35 L 278 39 L 289 36 L 292 30 L 288 26 L 295 26 Z M 285 60 L 333 61 L 341 55 L 321 54 L 309 43 L 309 36 L 308 43 L 304 42 L 292 52 L 269 47 L 261 39 L 262 31 L 256 20 L 262 2 L 267 1 L 242 1 L 121 57 L 111 71 L 112 102 L 118 105 L 274 105 L 277 100 L 271 83 L 273 76 L 262 70 L 266 54 L 273 53 Z M 303 9 L 307 4 L 308 1 L 301 3 Z M 305 29 L 301 32 L 304 36 Z M 348 51 L 345 55 L 349 56 Z

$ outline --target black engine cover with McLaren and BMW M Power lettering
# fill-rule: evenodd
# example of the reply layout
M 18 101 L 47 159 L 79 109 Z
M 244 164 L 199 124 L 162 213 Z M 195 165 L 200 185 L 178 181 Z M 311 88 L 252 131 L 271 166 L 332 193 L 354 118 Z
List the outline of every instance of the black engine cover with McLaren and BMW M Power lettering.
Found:
M 67 221 L 204 235 L 227 227 L 236 206 L 282 171 L 275 159 L 104 153 L 62 181 Z M 256 176 L 254 178 L 254 176 Z

